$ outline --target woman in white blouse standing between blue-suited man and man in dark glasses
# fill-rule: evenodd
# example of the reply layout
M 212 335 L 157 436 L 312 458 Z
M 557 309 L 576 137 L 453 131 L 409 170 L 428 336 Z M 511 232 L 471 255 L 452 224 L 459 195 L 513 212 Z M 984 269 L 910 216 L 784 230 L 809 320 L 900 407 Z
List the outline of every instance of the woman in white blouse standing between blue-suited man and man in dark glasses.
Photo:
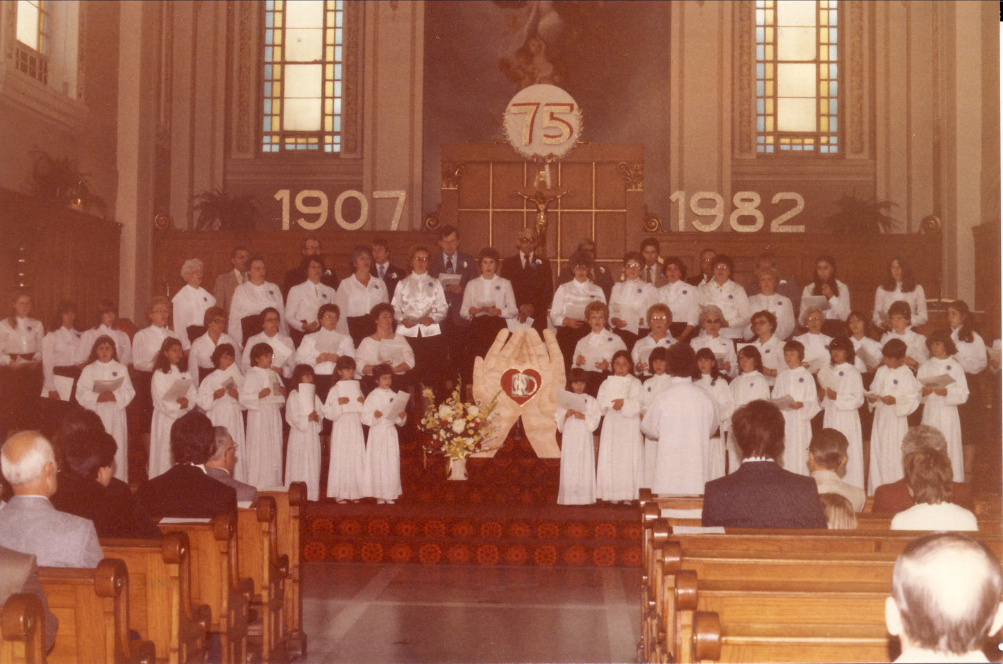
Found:
M 477 254 L 480 276 L 466 282 L 463 289 L 459 315 L 470 321 L 466 339 L 467 368 L 473 366 L 474 357 L 483 357 L 487 353 L 498 332 L 519 314 L 512 282 L 495 274 L 498 261 L 496 250 L 490 247 L 481 249 Z

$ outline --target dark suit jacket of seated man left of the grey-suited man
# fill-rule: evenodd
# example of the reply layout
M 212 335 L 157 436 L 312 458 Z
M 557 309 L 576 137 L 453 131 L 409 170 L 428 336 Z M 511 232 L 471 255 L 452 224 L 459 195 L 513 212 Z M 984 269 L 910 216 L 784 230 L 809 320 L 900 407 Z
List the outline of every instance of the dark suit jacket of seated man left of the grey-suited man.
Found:
M 177 463 L 139 485 L 139 504 L 150 517 L 211 519 L 237 512 L 237 490 L 213 479 L 197 465 Z

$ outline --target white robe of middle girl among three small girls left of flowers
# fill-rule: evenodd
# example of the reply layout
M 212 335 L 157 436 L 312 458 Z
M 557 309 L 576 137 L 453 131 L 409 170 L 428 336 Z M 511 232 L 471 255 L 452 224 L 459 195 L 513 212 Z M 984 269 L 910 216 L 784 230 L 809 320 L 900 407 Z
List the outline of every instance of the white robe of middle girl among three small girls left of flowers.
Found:
M 332 388 L 327 393 L 324 417 L 331 420 L 327 496 L 339 501 L 363 499 L 366 496 L 366 438 L 362 432 L 362 413 L 346 411 L 338 403 L 338 390 Z

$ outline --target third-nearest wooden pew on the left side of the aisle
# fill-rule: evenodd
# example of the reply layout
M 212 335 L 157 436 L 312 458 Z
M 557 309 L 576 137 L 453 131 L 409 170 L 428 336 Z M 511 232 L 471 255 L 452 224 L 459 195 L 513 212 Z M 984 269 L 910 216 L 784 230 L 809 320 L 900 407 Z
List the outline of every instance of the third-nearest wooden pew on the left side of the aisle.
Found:
M 129 628 L 149 638 L 157 661 L 201 662 L 212 613 L 192 601 L 189 537 L 168 533 L 161 540 L 101 540 L 107 558 L 125 562 L 129 572 Z

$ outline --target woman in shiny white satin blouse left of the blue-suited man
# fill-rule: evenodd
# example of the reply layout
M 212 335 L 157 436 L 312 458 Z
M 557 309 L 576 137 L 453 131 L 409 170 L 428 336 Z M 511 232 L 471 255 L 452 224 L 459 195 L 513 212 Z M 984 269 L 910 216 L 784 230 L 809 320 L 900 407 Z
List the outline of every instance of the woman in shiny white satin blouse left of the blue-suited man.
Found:
M 411 346 L 421 382 L 441 397 L 446 363 L 442 361 L 445 348 L 439 323 L 449 307 L 442 284 L 428 276 L 428 250 L 424 247 L 411 250 L 411 274 L 397 283 L 392 304 L 394 318 L 400 324 L 397 332 Z

